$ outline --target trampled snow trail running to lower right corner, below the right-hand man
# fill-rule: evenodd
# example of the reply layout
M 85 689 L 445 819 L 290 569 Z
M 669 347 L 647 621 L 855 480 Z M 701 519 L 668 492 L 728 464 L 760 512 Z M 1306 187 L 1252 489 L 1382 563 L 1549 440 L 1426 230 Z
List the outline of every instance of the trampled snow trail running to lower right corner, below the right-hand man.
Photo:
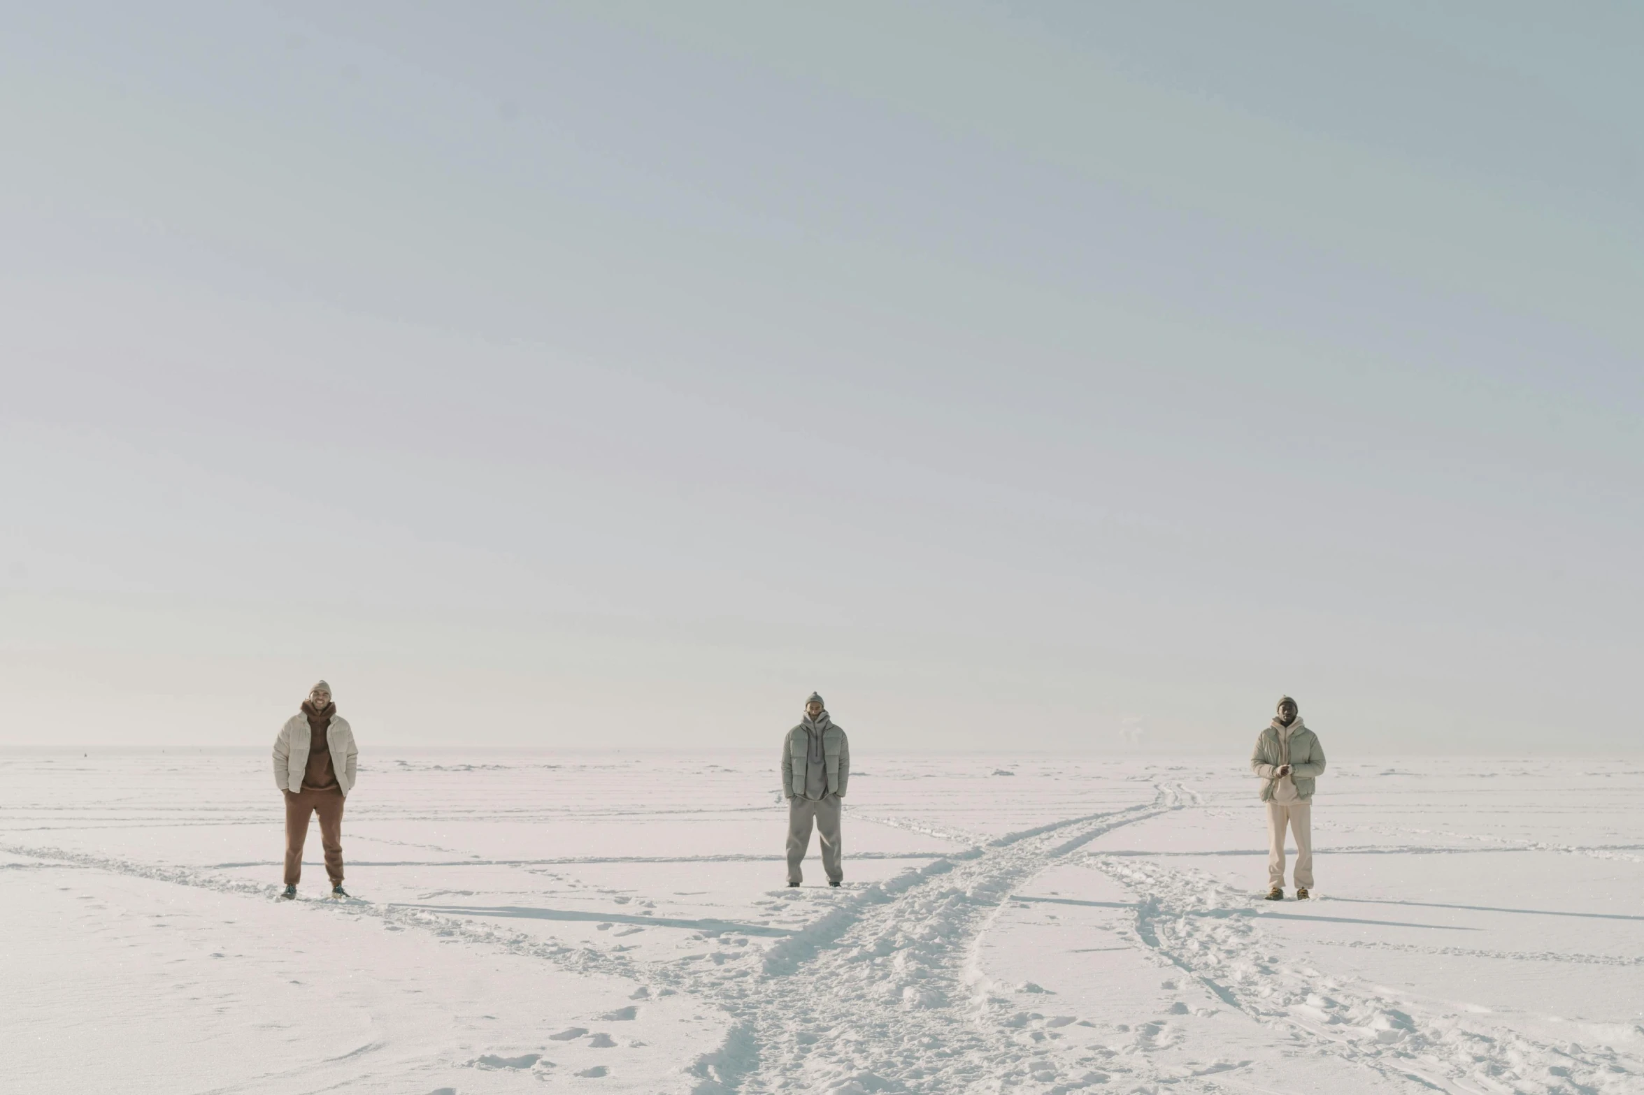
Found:
M 1139 895 L 1136 934 L 1225 1003 L 1310 1038 L 1342 1061 L 1434 1090 L 1636 1095 L 1644 1061 L 1609 1046 L 1552 1046 L 1478 1028 L 1348 978 L 1276 957 L 1248 893 L 1200 872 L 1129 857 L 1087 860 Z

